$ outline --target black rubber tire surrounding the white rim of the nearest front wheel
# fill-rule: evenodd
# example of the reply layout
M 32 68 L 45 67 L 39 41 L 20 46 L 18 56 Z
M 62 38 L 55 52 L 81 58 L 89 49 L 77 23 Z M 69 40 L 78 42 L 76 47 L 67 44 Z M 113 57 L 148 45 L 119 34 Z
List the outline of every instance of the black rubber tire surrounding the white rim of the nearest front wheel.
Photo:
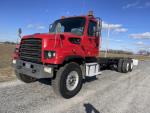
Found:
M 67 91 L 66 90 L 66 76 L 69 73 L 69 71 L 76 69 L 78 70 L 79 73 L 79 83 L 75 90 L 73 91 Z M 81 89 L 82 87 L 82 71 L 80 69 L 80 66 L 77 63 L 71 62 L 63 67 L 61 67 L 57 72 L 56 72 L 56 77 L 55 79 L 52 80 L 52 87 L 54 92 L 59 96 L 59 97 L 64 97 L 66 99 L 72 98 L 75 96 Z

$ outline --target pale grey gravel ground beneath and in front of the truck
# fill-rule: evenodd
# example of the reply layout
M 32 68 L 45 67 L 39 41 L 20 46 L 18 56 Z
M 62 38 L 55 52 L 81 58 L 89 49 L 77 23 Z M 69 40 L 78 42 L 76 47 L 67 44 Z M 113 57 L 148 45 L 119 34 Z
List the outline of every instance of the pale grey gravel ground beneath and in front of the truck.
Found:
M 148 113 L 150 62 L 127 74 L 105 70 L 72 99 L 58 98 L 50 80 L 0 84 L 0 113 Z

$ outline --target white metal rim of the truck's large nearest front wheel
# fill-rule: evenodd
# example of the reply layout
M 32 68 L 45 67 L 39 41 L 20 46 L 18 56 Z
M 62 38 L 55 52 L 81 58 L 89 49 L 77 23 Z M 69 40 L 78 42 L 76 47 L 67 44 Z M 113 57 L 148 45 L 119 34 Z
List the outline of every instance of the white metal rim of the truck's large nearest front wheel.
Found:
M 76 71 L 72 71 L 68 74 L 66 80 L 66 86 L 69 91 L 73 91 L 79 83 L 79 75 Z

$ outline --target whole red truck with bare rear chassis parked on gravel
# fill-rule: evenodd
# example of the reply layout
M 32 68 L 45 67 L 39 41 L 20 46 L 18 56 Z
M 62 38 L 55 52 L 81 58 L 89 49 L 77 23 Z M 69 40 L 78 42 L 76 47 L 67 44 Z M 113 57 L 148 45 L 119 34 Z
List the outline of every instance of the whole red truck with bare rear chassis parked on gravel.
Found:
M 56 20 L 49 33 L 23 36 L 13 59 L 16 76 L 25 83 L 51 78 L 54 92 L 71 98 L 80 91 L 83 79 L 99 75 L 101 67 L 132 71 L 130 58 L 98 57 L 101 29 L 101 19 L 89 12 Z

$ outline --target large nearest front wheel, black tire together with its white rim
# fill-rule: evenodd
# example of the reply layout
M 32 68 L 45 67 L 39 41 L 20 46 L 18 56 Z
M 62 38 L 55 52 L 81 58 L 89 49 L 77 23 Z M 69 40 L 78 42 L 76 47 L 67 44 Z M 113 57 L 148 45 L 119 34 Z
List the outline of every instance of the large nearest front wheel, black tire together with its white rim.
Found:
M 70 83 L 69 80 L 71 80 L 69 78 L 70 76 L 76 76 L 74 77 L 76 79 L 73 81 L 73 85 L 72 86 L 70 85 L 69 87 L 68 85 Z M 82 87 L 82 71 L 80 66 L 77 63 L 71 62 L 69 64 L 66 64 L 64 67 L 61 67 L 56 72 L 56 78 L 52 80 L 52 87 L 54 92 L 58 96 L 64 97 L 66 99 L 75 96 Z M 73 88 L 71 89 L 71 87 Z

